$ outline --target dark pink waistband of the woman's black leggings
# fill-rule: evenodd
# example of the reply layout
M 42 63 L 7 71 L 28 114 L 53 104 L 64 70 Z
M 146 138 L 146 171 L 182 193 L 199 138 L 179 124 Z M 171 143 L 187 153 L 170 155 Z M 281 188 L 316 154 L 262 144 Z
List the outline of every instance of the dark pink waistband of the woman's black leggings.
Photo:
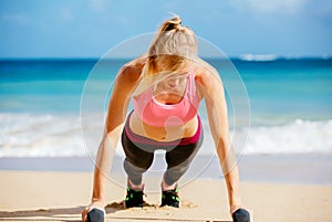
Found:
M 196 144 L 200 138 L 201 123 L 200 123 L 200 118 L 198 115 L 197 115 L 198 126 L 197 126 L 197 130 L 196 130 L 195 135 L 191 137 L 186 137 L 186 138 L 181 138 L 181 139 L 177 139 L 177 140 L 173 140 L 173 141 L 158 141 L 158 140 L 151 139 L 151 138 L 135 134 L 129 127 L 131 115 L 132 115 L 132 113 L 129 114 L 129 116 L 126 120 L 124 131 L 125 131 L 127 138 L 135 144 L 162 146 L 162 147 L 179 146 L 179 145 L 181 146 L 181 145 Z

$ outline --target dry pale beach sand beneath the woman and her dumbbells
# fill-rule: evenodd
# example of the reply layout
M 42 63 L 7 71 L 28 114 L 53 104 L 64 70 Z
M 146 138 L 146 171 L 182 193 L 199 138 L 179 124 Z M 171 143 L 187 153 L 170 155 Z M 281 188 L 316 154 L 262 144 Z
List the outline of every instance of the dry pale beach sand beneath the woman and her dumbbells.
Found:
M 91 172 L 3 170 L 0 177 L 0 221 L 80 221 L 92 191 Z M 241 182 L 240 188 L 252 221 L 332 221 L 332 186 Z M 143 209 L 123 209 L 125 189 L 110 181 L 106 221 L 231 221 L 226 193 L 224 180 L 197 179 L 180 188 L 180 209 L 159 208 L 159 192 L 147 193 Z

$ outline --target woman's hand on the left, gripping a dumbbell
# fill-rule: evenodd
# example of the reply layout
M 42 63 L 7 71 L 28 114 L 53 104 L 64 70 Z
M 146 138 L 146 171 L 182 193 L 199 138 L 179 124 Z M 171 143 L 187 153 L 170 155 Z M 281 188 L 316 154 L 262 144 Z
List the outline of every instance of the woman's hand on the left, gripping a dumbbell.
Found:
M 94 201 L 90 203 L 82 211 L 82 221 L 83 222 L 104 222 L 105 209 L 104 204 L 100 201 Z

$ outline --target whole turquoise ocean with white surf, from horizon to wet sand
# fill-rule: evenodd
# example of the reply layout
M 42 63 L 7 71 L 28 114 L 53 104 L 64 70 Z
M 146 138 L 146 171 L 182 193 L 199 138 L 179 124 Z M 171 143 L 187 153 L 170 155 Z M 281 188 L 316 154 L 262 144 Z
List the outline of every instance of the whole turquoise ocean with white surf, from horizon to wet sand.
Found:
M 127 61 L 1 60 L 0 158 L 93 156 L 112 84 Z M 228 68 L 206 61 L 225 84 L 239 155 L 332 154 L 331 57 L 234 57 Z M 207 138 L 199 155 L 211 155 L 204 106 L 199 113 Z

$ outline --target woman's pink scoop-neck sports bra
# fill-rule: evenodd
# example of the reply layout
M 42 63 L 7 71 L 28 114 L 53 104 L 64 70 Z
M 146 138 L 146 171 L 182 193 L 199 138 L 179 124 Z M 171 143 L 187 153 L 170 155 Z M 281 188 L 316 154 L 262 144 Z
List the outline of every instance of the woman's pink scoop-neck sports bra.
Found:
M 157 127 L 181 126 L 197 115 L 200 99 L 193 72 L 188 74 L 186 89 L 179 103 L 160 104 L 153 93 L 152 86 L 133 99 L 134 110 L 145 124 Z

